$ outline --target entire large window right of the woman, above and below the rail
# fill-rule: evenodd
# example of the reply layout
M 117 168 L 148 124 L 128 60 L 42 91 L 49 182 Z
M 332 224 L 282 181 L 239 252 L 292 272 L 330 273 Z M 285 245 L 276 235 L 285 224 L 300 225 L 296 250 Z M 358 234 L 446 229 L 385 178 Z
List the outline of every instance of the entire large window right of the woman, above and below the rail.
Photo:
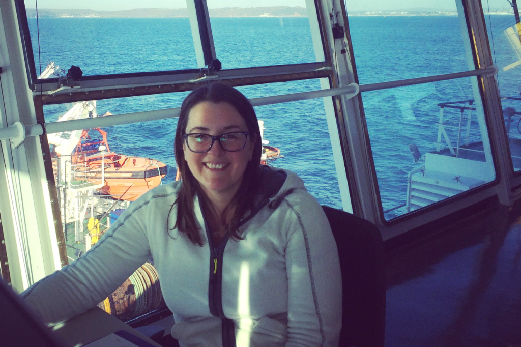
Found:
M 474 69 L 453 0 L 345 4 L 361 84 Z M 361 97 L 386 220 L 495 178 L 476 78 Z

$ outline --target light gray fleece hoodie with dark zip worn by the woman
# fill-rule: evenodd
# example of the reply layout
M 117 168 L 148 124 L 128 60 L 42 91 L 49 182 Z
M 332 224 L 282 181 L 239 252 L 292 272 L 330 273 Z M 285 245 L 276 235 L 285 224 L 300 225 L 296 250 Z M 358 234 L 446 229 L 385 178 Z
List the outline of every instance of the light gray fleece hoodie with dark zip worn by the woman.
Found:
M 172 230 L 180 181 L 133 202 L 82 257 L 22 293 L 48 322 L 103 301 L 151 256 L 181 346 L 338 346 L 341 274 L 327 217 L 288 170 L 263 167 L 243 240 L 204 246 Z M 167 219 L 169 226 L 167 229 Z

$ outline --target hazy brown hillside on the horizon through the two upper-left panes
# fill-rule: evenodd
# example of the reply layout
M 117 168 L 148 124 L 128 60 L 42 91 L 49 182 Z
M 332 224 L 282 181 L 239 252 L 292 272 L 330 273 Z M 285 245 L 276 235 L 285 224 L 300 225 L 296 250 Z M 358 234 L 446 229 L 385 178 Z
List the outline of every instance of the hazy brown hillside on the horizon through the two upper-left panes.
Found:
M 35 18 L 36 9 L 27 8 L 27 17 Z M 307 10 L 302 7 L 224 7 L 210 8 L 210 17 L 303 17 Z M 188 17 L 186 8 L 135 8 L 121 11 L 96 11 L 91 9 L 52 9 L 39 8 L 40 18 L 165 18 Z

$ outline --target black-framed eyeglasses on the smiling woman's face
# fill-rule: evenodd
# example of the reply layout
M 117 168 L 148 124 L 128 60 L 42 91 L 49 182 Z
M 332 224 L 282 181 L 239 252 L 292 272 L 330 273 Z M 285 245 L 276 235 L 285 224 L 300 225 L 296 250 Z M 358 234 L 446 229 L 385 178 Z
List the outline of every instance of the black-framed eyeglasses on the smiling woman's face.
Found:
M 242 150 L 246 145 L 246 138 L 249 132 L 233 131 L 225 134 L 213 136 L 209 134 L 191 133 L 184 134 L 184 141 L 187 143 L 188 149 L 195 153 L 208 152 L 214 142 L 219 140 L 222 149 L 228 152 L 237 152 Z

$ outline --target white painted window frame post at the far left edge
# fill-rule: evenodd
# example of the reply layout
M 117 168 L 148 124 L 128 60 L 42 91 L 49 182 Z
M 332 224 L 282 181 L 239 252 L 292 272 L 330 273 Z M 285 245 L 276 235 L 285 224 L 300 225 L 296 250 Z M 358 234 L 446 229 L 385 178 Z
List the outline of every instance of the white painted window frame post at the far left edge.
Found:
M 2 127 L 16 121 L 36 122 L 32 92 L 18 32 L 14 1 L 0 4 L 0 66 L 2 75 Z M 56 231 L 39 137 L 26 139 L 17 148 L 1 142 L 0 213 L 11 284 L 26 289 L 35 281 L 61 268 Z

